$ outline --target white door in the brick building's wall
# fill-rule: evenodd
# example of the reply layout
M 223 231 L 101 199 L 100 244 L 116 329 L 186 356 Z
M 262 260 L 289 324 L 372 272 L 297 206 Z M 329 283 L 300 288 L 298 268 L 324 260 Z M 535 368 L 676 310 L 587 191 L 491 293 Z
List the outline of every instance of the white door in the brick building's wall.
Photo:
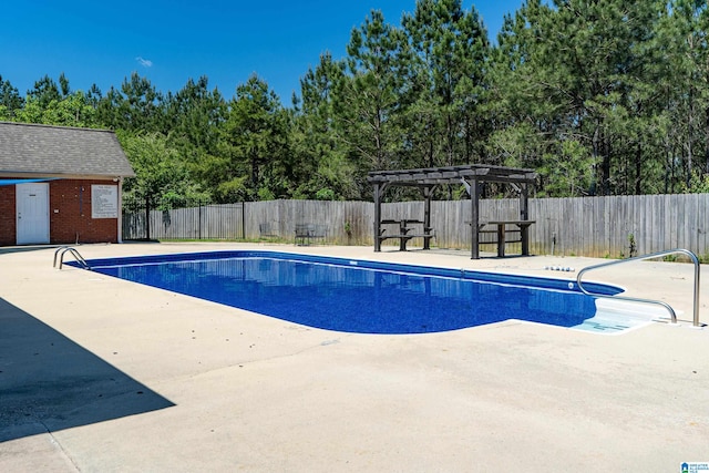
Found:
M 49 184 L 17 185 L 18 245 L 49 243 Z

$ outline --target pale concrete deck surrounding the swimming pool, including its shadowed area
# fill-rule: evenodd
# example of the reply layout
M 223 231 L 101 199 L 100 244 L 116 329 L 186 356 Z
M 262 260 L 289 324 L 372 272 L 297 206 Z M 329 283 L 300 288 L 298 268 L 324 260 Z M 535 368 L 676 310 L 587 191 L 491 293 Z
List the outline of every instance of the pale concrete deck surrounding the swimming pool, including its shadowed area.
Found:
M 563 279 L 576 273 L 545 267 L 603 261 L 255 244 L 79 250 L 251 248 Z M 0 251 L 3 472 L 679 472 L 709 462 L 709 329 L 691 327 L 688 264 L 585 278 L 670 304 L 678 326 L 607 336 L 511 320 L 373 336 L 58 270 L 53 254 Z

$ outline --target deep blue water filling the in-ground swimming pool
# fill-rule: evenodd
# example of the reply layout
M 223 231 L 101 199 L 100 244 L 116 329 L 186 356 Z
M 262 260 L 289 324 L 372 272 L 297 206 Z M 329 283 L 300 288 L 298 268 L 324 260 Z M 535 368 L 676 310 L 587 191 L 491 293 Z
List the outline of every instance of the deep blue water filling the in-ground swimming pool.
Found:
M 594 298 L 568 280 L 461 269 L 275 251 L 93 259 L 89 265 L 104 275 L 346 332 L 440 332 L 507 319 L 575 327 L 596 313 Z M 620 291 L 587 286 L 608 295 Z

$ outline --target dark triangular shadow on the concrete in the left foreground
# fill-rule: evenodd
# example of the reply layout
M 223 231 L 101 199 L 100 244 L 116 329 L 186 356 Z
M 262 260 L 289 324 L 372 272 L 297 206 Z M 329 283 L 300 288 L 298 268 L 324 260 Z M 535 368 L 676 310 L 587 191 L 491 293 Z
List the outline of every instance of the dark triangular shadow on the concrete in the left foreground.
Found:
M 0 299 L 0 442 L 173 405 Z

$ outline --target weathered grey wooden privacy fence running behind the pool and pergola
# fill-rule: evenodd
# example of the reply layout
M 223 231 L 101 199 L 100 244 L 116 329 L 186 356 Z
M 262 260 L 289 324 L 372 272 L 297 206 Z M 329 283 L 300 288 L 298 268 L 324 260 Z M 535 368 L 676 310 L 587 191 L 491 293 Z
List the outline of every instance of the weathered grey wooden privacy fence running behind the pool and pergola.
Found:
M 243 205 L 243 207 L 242 207 Z M 470 200 L 431 203 L 433 247 L 470 249 Z M 628 257 L 671 248 L 700 256 L 709 246 L 709 194 L 531 198 L 530 251 L 533 255 Z M 152 210 L 151 237 L 273 239 L 294 241 L 296 225 L 314 224 L 332 245 L 373 245 L 373 204 L 369 202 L 267 200 Z M 382 204 L 383 219 L 419 218 L 422 202 Z M 518 199 L 480 202 L 481 220 L 520 215 Z M 145 237 L 146 213 L 124 212 L 124 239 Z M 483 235 L 491 241 L 494 235 Z M 423 241 L 413 239 L 409 247 Z M 386 244 L 384 244 L 386 245 Z M 399 243 L 392 240 L 392 246 Z M 392 247 L 393 249 L 393 247 Z M 495 247 L 483 245 L 483 251 Z M 508 247 L 508 254 L 518 251 Z

